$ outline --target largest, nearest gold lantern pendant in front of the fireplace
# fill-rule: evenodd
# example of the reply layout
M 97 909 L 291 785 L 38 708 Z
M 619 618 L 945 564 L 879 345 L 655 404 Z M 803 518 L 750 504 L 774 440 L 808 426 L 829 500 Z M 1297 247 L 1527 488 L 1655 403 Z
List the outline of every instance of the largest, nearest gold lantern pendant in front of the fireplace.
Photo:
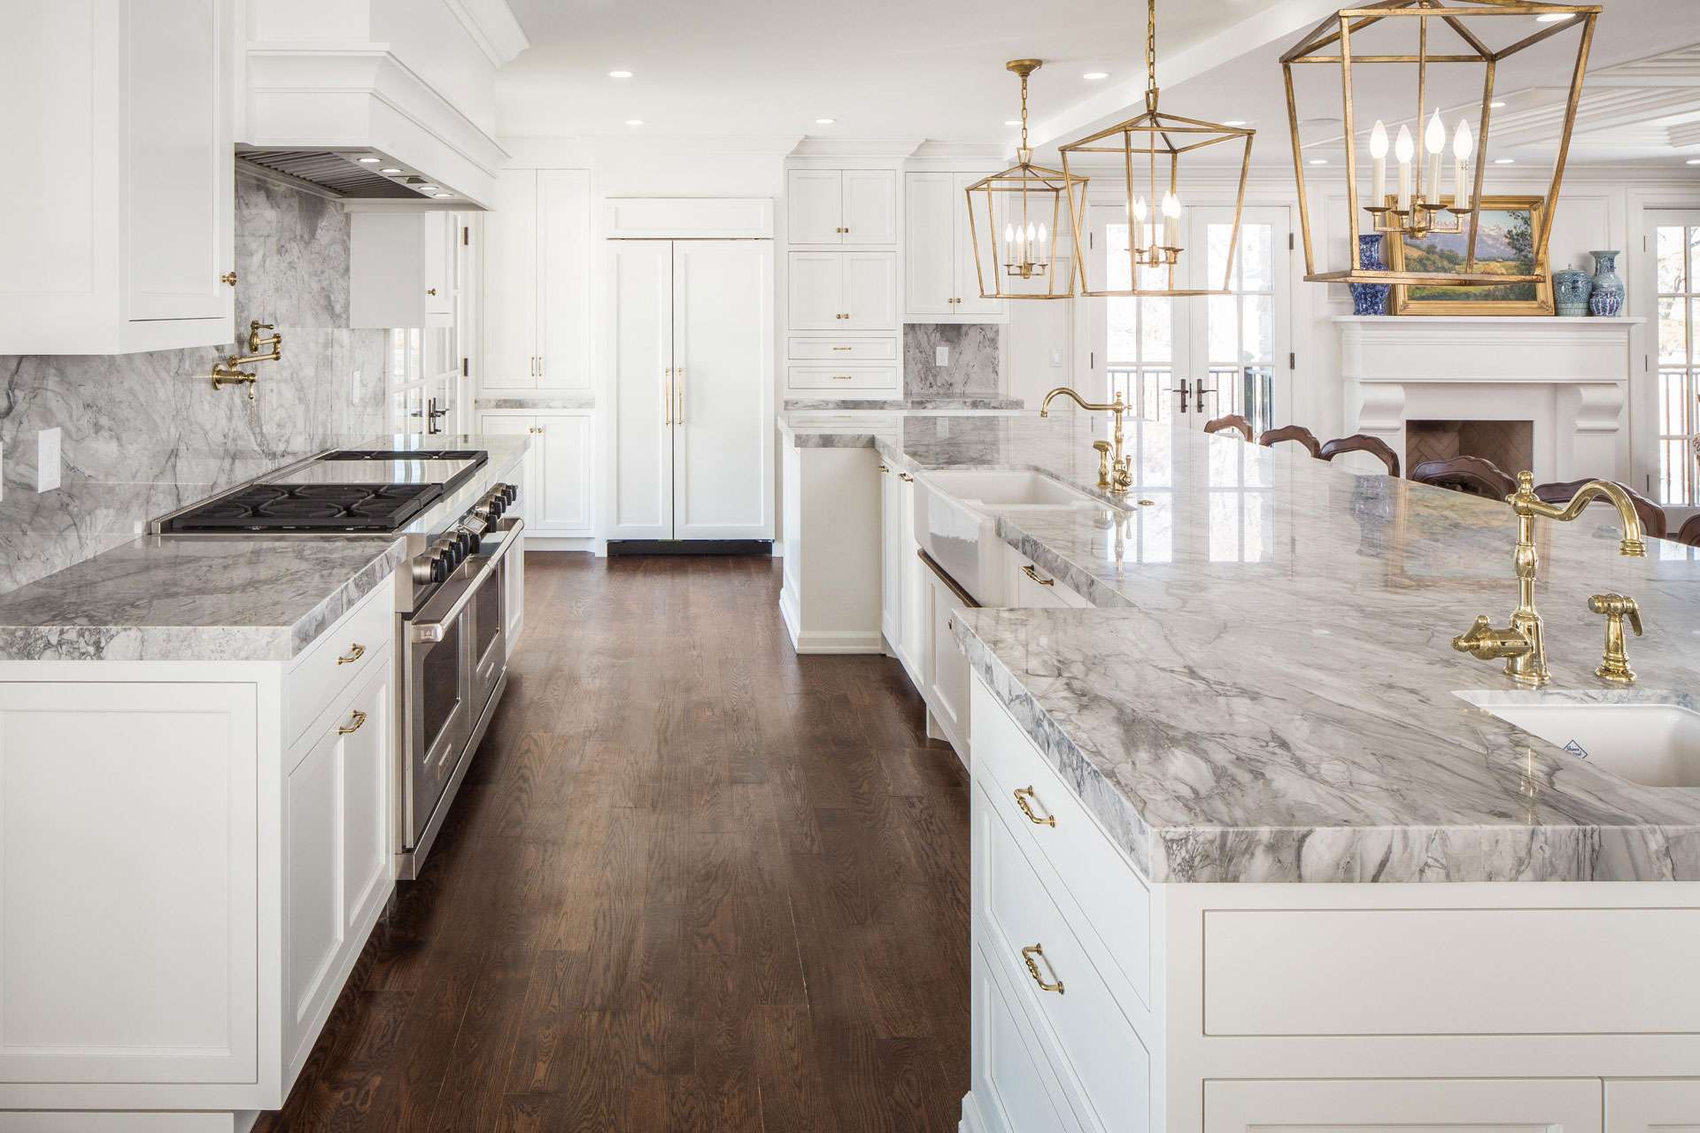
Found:
M 1571 148 L 1571 129 L 1576 126 L 1576 107 L 1583 93 L 1583 73 L 1588 70 L 1588 48 L 1593 42 L 1598 5 L 1547 3 L 1544 0 L 1379 0 L 1362 7 L 1341 8 L 1318 24 L 1282 56 L 1282 73 L 1287 83 L 1287 119 L 1292 127 L 1292 156 L 1299 182 L 1299 228 L 1304 233 L 1304 277 L 1311 282 L 1346 284 L 1443 284 L 1448 287 L 1499 287 L 1504 284 L 1532 284 L 1545 279 L 1547 240 L 1552 234 L 1552 202 L 1559 199 L 1564 182 L 1564 161 Z M 1416 53 L 1357 51 L 1353 36 L 1375 24 L 1392 20 L 1389 27 L 1416 25 Z M 1443 24 L 1431 29 L 1430 24 Z M 1493 127 L 1494 71 L 1501 61 L 1545 39 L 1579 29 L 1569 97 L 1559 132 L 1557 160 L 1545 200 L 1549 207 L 1535 212 L 1532 233 L 1533 267 L 1528 273 L 1494 273 L 1476 265 L 1477 229 L 1482 197 L 1482 172 L 1488 166 L 1488 138 Z M 1443 42 L 1448 34 L 1455 42 Z M 1498 32 L 1498 34 L 1496 34 Z M 1489 42 L 1506 42 L 1491 48 Z M 1362 36 L 1360 36 L 1362 42 Z M 1304 155 L 1299 139 L 1299 100 L 1294 93 L 1294 66 L 1321 63 L 1340 68 L 1341 105 L 1345 112 L 1343 141 L 1346 146 L 1346 212 L 1352 263 L 1346 270 L 1318 270 L 1311 245 L 1311 216 L 1304 182 Z M 1357 105 L 1353 99 L 1353 68 L 1370 65 L 1399 65 L 1416 68 L 1416 122 L 1421 132 L 1421 155 L 1413 139 L 1411 126 L 1401 124 L 1392 143 L 1397 163 L 1397 182 L 1387 183 L 1387 127 L 1377 119 L 1370 129 L 1370 197 L 1358 199 L 1358 141 Z M 1479 66 L 1481 104 L 1460 114 L 1457 127 L 1448 131 L 1438 105 L 1430 107 L 1431 66 L 1445 66 L 1448 73 L 1459 66 Z M 1438 83 L 1433 83 L 1438 85 Z M 1474 93 L 1470 95 L 1474 100 Z M 1438 99 L 1435 100 L 1438 102 Z M 1503 105 L 1503 104 L 1501 104 Z M 1425 121 L 1426 116 L 1426 121 Z M 1476 119 L 1476 129 L 1470 129 Z M 1445 161 L 1450 136 L 1450 163 Z M 1476 160 L 1472 161 L 1472 155 Z M 1445 168 L 1450 165 L 1450 170 Z M 1443 177 L 1447 173 L 1447 177 Z M 1450 189 L 1450 192 L 1447 192 Z M 1464 238 L 1462 272 L 1380 270 L 1362 267 L 1358 233 L 1363 221 L 1370 233 L 1392 240 L 1421 241 L 1430 234 L 1467 233 Z

